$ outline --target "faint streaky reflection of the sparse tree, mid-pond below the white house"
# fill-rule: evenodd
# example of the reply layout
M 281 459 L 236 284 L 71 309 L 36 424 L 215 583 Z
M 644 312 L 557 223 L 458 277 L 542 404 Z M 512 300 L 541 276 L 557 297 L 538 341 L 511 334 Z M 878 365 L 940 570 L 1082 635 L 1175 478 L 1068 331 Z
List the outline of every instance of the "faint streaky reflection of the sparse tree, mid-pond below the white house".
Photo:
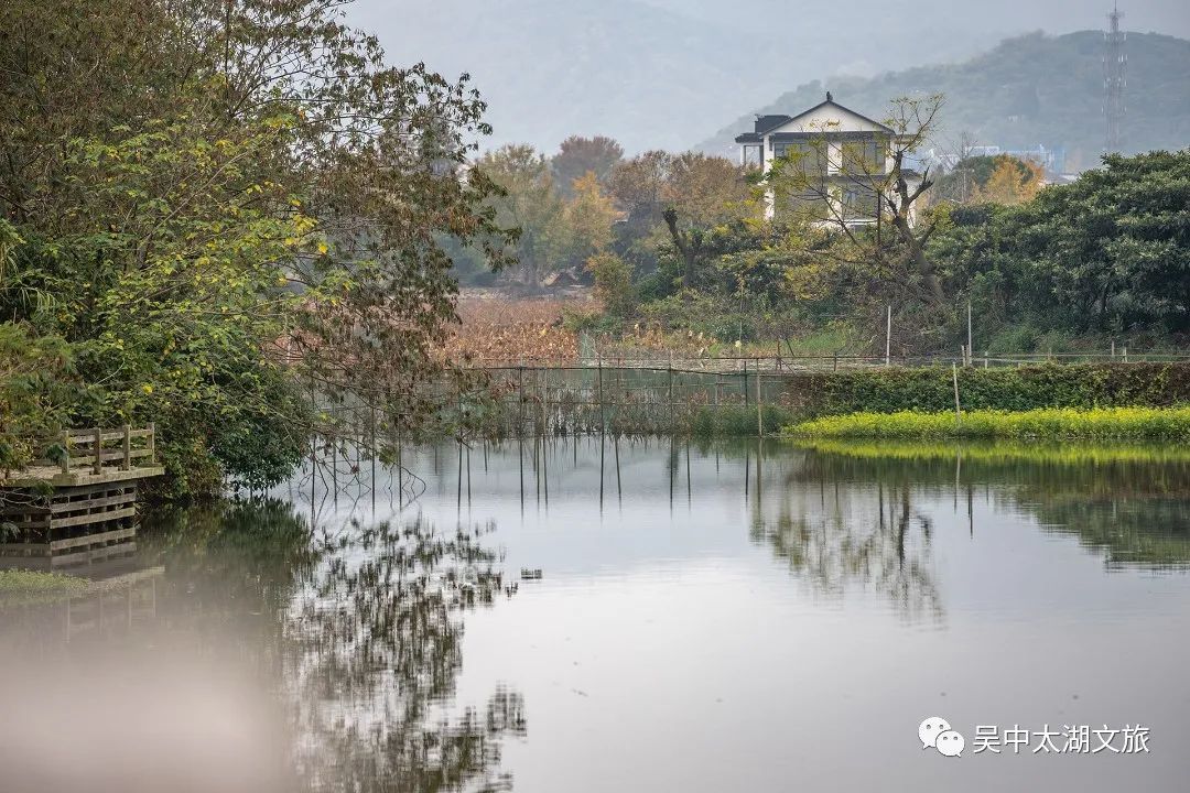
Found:
M 757 483 L 763 483 L 763 455 L 757 459 Z M 783 477 L 775 520 L 764 516 L 765 502 L 757 489 L 752 541 L 770 546 L 818 592 L 841 597 L 853 586 L 872 589 L 910 622 L 940 621 L 941 594 L 931 569 L 933 527 L 914 509 L 909 486 L 885 490 L 882 483 L 875 492 L 848 487 L 840 495 L 831 482 L 828 505 L 828 480 L 813 468 L 810 459 Z

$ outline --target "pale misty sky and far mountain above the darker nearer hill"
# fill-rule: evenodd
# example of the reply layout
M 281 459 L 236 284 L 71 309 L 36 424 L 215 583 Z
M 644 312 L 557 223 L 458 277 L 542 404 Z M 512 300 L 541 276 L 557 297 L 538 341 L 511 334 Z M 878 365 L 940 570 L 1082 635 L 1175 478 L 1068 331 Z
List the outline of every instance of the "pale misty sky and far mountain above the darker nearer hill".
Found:
M 1096 26 L 1109 2 L 963 5 L 357 0 L 346 13 L 380 36 L 394 64 L 470 74 L 495 127 L 484 146 L 526 141 L 552 151 L 570 134 L 607 134 L 631 153 L 689 147 L 814 78 L 957 61 L 1038 27 Z M 1165 5 L 1132 0 L 1129 20 L 1183 19 L 1190 29 L 1190 15 Z

